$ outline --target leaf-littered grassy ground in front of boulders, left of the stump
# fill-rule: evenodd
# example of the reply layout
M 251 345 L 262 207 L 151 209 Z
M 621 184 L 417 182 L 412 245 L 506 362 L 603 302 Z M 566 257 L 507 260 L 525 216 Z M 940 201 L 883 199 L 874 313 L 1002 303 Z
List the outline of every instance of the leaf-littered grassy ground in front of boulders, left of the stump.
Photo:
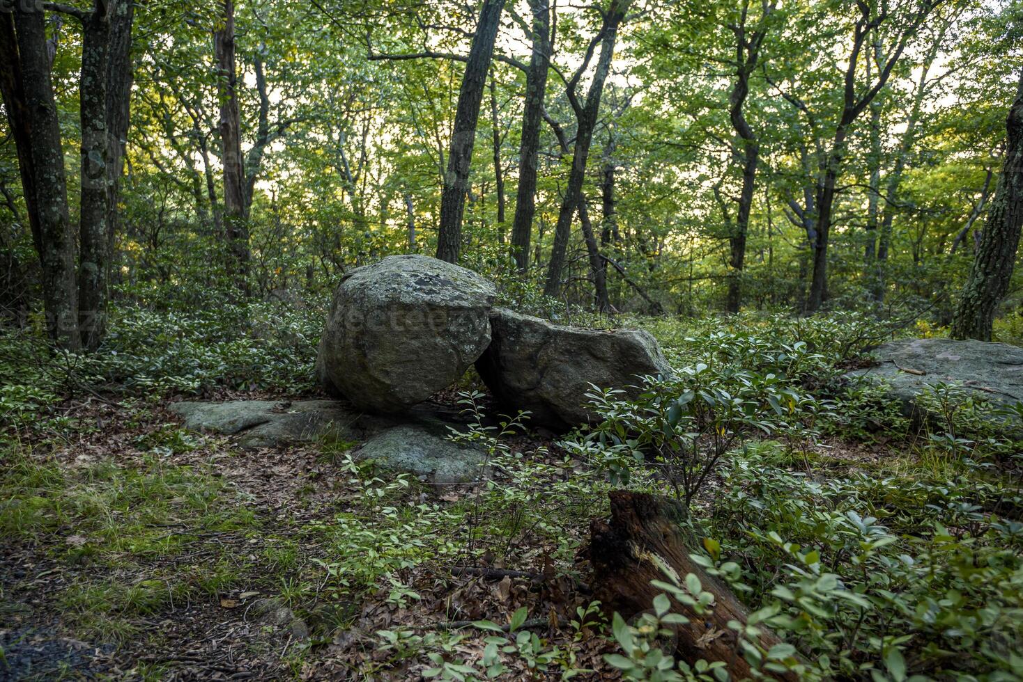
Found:
M 374 535 L 383 504 L 431 507 L 427 523 L 436 516 L 437 527 L 416 529 L 420 540 L 451 534 L 432 538 L 443 545 L 476 535 L 475 486 L 433 489 L 409 480 L 387 489 L 371 470 L 343 461 L 343 451 L 241 449 L 182 430 L 166 403 L 126 408 L 92 396 L 62 411 L 75 436 L 34 446 L 35 434 L 21 434 L 21 458 L 2 486 L 5 496 L 28 502 L 3 520 L 20 537 L 0 555 L 0 679 L 348 679 L 353 671 L 408 679 L 414 662 L 403 661 L 400 646 L 381 648 L 379 631 L 507 623 L 522 605 L 552 644 L 579 640 L 578 668 L 602 667 L 601 654 L 613 648 L 557 627 L 588 604 L 587 587 L 575 579 L 585 568 L 554 556 L 557 546 L 526 529 L 514 531 L 514 547 L 474 538 L 464 553 L 414 567 L 401 555 L 425 549 L 390 536 L 401 521 L 388 519 Z M 558 450 L 534 437 L 508 442 L 516 452 Z M 546 458 L 553 470 L 562 464 Z M 339 517 L 360 525 L 340 532 L 360 536 L 350 547 L 339 540 Z M 573 546 L 582 544 L 587 518 L 576 521 Z M 377 571 L 397 569 L 401 586 L 344 595 L 329 578 L 339 548 L 335 571 L 364 565 L 353 571 L 364 576 L 341 576 L 352 592 Z M 385 554 L 376 568 L 374 550 Z M 458 575 L 465 566 L 483 575 Z M 266 598 L 288 608 L 300 632 L 254 615 L 253 604 Z M 555 627 L 538 627 L 534 615 Z M 482 650 L 485 633 L 474 634 L 455 645 Z

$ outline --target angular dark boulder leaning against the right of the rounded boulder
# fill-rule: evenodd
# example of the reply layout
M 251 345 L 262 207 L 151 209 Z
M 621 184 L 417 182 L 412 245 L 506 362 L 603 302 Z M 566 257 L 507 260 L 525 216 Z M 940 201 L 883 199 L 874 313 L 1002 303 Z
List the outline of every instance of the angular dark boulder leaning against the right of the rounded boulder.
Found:
M 635 396 L 639 377 L 672 375 L 657 341 L 639 330 L 565 327 L 501 308 L 490 328 L 476 369 L 505 410 L 528 409 L 534 425 L 563 430 L 592 420 L 590 384 Z

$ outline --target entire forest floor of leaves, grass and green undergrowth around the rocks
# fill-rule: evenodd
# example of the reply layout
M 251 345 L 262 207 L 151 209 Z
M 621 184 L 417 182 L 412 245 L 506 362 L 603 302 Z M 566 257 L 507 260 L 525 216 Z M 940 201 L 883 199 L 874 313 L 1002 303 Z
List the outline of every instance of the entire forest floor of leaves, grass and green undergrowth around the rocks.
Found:
M 795 333 L 822 330 L 817 348 L 862 336 L 814 324 Z M 915 424 L 882 388 L 841 378 L 862 358 L 749 328 L 659 329 L 700 405 L 731 395 L 752 410 L 699 407 L 718 420 L 701 442 L 737 439 L 695 497 L 694 551 L 814 679 L 1023 678 L 1023 468 L 990 406 L 944 387 L 933 404 L 947 426 Z M 223 373 L 203 354 L 215 348 L 274 388 L 129 391 L 20 355 L 0 366 L 20 382 L 0 393 L 0 680 L 603 680 L 653 660 L 622 642 L 657 644 L 656 629 L 601 613 L 585 549 L 611 490 L 671 494 L 668 470 L 616 436 L 649 424 L 652 443 L 684 440 L 670 410 L 628 426 L 641 409 L 608 398 L 607 423 L 564 440 L 480 429 L 487 479 L 435 486 L 359 461 L 358 443 L 247 450 L 169 409 L 196 393 L 309 397 L 273 374 L 304 377 L 308 357 L 287 369 L 227 344 L 184 346 L 199 359 L 163 336 L 141 345 L 174 381 L 191 376 L 181 363 Z M 694 679 L 677 672 L 664 679 Z

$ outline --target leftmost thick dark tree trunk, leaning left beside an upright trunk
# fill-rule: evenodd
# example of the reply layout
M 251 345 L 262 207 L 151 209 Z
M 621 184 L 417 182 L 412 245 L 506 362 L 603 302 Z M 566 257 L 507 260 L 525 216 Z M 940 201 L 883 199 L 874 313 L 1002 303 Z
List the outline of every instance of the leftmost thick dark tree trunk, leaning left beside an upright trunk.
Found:
M 14 8 L 17 42 L 17 65 L 24 111 L 29 117 L 31 138 L 28 154 L 32 158 L 32 205 L 39 222 L 36 248 L 42 266 L 43 307 L 46 329 L 51 340 L 68 350 L 81 347 L 78 330 L 78 289 L 75 283 L 75 239 L 68 215 L 68 179 L 60 146 L 60 124 L 53 86 L 46 27 L 41 8 L 18 3 Z M 4 36 L 8 40 L 9 35 Z M 4 52 L 13 51 L 12 46 Z M 15 108 L 14 111 L 17 109 Z M 8 108 L 8 115 L 12 114 Z M 15 141 L 17 137 L 15 137 Z M 21 156 L 21 153 L 18 153 Z

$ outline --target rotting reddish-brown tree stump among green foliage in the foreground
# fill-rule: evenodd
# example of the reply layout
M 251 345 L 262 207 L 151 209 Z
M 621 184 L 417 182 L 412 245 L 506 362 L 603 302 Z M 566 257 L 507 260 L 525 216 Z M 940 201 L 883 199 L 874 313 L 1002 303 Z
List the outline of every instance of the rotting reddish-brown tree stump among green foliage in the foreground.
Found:
M 685 516 L 681 504 L 667 497 L 625 490 L 612 491 L 609 496 L 611 519 L 595 519 L 590 524 L 588 553 L 594 596 L 608 613 L 618 612 L 628 620 L 650 611 L 654 597 L 664 591 L 651 581 L 670 582 L 662 563 L 677 574 L 682 584 L 687 574 L 694 574 L 703 590 L 714 595 L 714 605 L 698 616 L 672 600 L 673 611 L 690 621 L 677 626 L 675 652 L 688 663 L 700 659 L 724 662 L 732 680 L 753 677 L 753 670 L 740 649 L 738 633 L 727 627 L 728 621 L 745 625 L 749 612 L 727 585 L 690 558 L 679 524 Z M 762 625 L 757 628 L 759 645 L 764 651 L 782 642 Z M 799 680 L 793 671 L 760 670 L 758 676 Z

